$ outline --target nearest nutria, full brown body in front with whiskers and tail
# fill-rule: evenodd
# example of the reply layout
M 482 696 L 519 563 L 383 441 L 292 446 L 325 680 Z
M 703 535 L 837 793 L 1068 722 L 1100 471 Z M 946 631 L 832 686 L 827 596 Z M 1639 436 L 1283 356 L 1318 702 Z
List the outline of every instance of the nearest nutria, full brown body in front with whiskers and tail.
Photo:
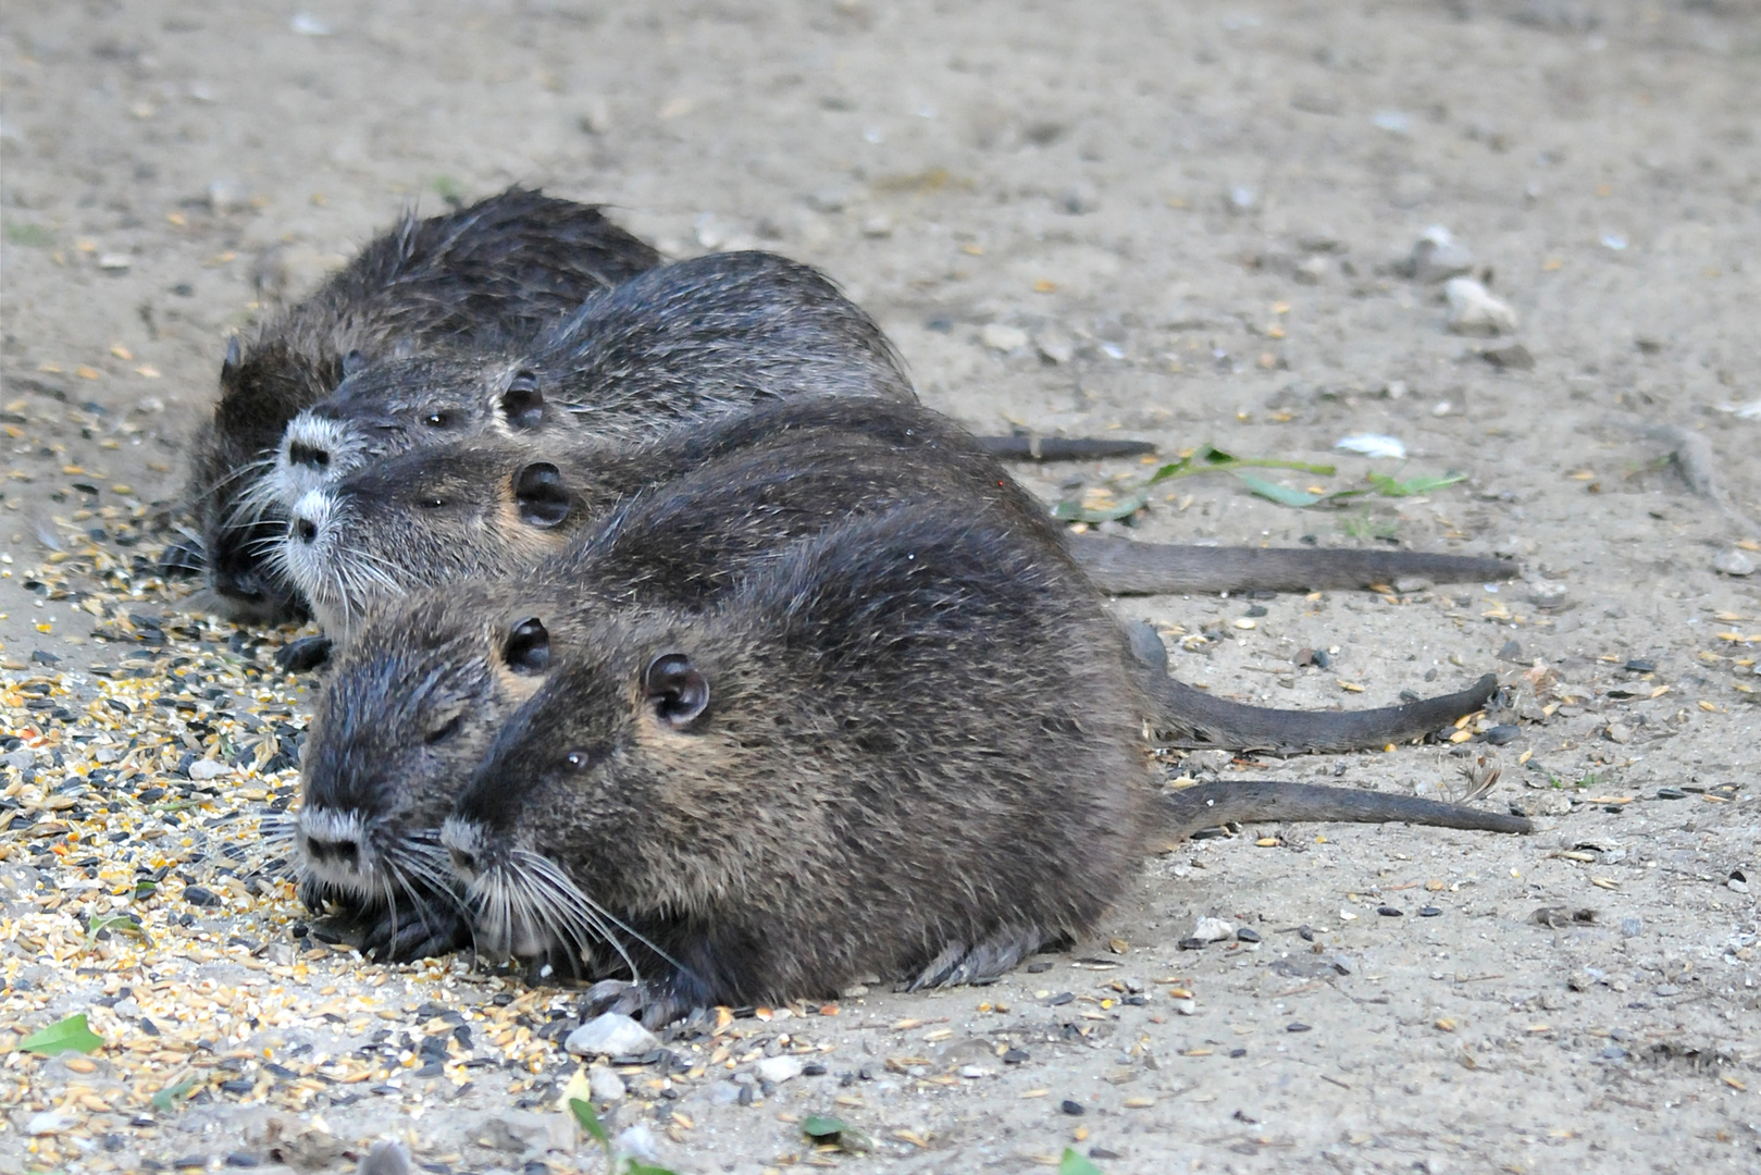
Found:
M 1159 798 L 1143 733 L 1169 715 L 1081 573 L 969 509 L 851 520 L 704 610 L 588 601 L 567 624 L 442 844 L 479 951 L 627 971 L 650 1022 L 868 972 L 1000 974 L 1212 823 Z M 1261 787 L 1233 814 L 1282 816 L 1284 794 L 1319 817 L 1529 828 Z

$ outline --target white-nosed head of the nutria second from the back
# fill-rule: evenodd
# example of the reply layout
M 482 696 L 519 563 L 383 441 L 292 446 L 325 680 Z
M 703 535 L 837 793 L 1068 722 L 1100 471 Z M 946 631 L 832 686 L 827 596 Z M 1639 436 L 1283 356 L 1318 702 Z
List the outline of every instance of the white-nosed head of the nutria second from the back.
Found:
M 345 359 L 329 398 L 282 433 L 268 490 L 284 507 L 363 465 L 486 432 L 535 435 L 549 421 L 537 375 L 505 359 L 417 356 Z

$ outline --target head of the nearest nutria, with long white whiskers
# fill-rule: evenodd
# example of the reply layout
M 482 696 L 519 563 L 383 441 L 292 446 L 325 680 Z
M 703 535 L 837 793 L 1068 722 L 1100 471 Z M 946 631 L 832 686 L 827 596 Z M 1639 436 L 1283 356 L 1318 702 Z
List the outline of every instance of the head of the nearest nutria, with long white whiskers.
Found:
M 780 726 L 689 620 L 590 622 L 502 726 L 442 826 L 479 950 L 604 972 L 620 920 L 741 888 Z M 748 654 L 750 655 L 750 654 Z M 768 728 L 768 729 L 766 729 Z M 586 964 L 583 967 L 583 964 Z

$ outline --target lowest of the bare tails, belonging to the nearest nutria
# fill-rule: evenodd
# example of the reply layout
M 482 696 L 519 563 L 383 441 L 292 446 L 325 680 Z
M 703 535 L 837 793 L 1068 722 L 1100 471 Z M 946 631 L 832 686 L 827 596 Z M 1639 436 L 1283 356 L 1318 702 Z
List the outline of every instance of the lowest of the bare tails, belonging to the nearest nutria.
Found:
M 1197 784 L 1160 798 L 1164 824 L 1155 831 L 1183 840 L 1201 828 L 1250 821 L 1338 824 L 1426 824 L 1470 831 L 1534 831 L 1522 816 L 1486 812 L 1460 803 L 1398 796 L 1358 787 L 1321 787 L 1266 779 Z

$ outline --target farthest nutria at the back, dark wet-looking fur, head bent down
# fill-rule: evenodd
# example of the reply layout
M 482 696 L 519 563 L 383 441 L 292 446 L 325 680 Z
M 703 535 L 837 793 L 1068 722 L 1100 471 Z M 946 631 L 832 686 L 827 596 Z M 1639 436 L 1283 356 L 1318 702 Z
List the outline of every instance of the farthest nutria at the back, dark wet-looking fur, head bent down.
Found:
M 195 437 L 190 509 L 201 541 L 167 551 L 167 571 L 201 571 L 236 618 L 301 611 L 261 562 L 280 534 L 261 484 L 287 423 L 345 372 L 400 351 L 514 345 L 590 294 L 659 264 L 599 208 L 509 188 L 370 241 L 305 301 L 227 344 L 220 398 Z

